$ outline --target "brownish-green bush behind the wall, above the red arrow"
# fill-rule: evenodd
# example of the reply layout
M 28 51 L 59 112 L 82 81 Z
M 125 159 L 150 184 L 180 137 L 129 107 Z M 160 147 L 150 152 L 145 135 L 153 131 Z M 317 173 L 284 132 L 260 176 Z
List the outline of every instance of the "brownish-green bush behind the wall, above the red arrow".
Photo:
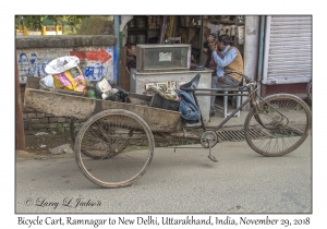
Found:
M 108 21 L 107 16 L 87 16 L 82 20 L 77 27 L 78 35 L 114 34 L 113 21 Z

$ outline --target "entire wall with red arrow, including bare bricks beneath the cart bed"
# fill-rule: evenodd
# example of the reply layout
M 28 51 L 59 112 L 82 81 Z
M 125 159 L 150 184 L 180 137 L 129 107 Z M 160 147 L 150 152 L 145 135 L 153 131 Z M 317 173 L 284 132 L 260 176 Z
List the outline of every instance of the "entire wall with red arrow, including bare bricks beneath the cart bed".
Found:
M 46 65 L 63 56 L 80 58 L 78 65 L 86 80 L 98 81 L 105 76 L 117 82 L 117 38 L 112 35 L 33 36 L 15 39 L 22 101 L 27 76 L 46 76 Z M 70 131 L 69 117 L 53 117 L 51 113 L 40 113 L 23 107 L 23 120 L 26 134 L 35 131 Z M 75 130 L 78 130 L 81 124 L 76 120 Z

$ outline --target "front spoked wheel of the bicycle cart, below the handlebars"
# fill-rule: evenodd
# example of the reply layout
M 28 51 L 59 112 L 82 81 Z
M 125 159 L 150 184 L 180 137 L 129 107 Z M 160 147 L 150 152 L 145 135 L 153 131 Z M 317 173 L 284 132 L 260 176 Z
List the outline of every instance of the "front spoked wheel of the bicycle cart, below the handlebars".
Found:
M 289 154 L 307 137 L 310 108 L 301 98 L 289 94 L 271 95 L 264 100 L 258 116 L 251 109 L 245 119 L 245 140 L 252 149 L 265 156 Z

